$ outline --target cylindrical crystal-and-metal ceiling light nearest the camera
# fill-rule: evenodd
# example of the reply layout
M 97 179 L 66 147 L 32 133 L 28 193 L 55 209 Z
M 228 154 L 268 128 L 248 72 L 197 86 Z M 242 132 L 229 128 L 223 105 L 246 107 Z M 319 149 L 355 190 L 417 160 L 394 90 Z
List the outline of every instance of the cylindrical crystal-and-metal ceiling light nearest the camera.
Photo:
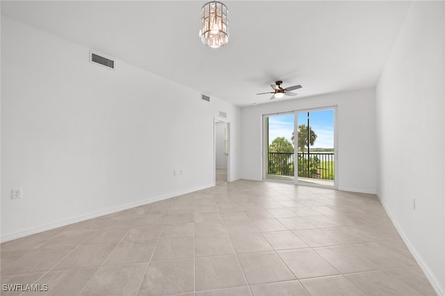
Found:
M 200 38 L 208 47 L 218 48 L 229 42 L 227 6 L 219 1 L 207 2 L 201 8 Z

